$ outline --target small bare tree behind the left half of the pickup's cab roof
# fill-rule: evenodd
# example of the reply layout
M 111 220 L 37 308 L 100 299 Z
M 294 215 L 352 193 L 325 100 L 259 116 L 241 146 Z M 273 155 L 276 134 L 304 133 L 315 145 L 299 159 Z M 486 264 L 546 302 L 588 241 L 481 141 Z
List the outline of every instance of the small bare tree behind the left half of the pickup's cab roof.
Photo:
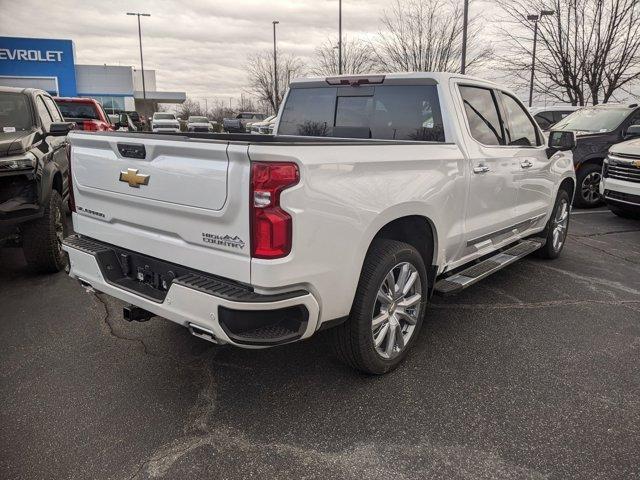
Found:
M 338 42 L 326 40 L 316 48 L 314 75 L 338 75 Z M 359 38 L 342 39 L 342 71 L 347 74 L 369 73 L 378 70 L 371 44 Z

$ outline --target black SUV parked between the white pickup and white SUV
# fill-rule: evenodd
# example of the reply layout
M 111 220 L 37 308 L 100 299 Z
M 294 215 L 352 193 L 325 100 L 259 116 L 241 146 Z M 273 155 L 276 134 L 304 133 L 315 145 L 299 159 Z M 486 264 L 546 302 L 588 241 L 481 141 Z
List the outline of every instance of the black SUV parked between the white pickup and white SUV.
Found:
M 573 151 L 578 188 L 574 205 L 583 208 L 602 203 L 600 179 L 602 162 L 609 147 L 623 141 L 631 125 L 640 124 L 640 106 L 603 104 L 584 107 L 560 120 L 554 130 L 576 132 L 577 146 Z

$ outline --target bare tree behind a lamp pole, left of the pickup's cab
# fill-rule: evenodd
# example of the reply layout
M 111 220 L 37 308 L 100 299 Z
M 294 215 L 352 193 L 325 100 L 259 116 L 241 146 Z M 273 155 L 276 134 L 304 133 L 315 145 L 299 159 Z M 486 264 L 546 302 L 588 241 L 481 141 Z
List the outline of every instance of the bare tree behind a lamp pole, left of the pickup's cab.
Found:
M 249 75 L 249 92 L 258 103 L 268 104 L 272 111 L 280 105 L 284 93 L 294 77 L 303 75 L 302 61 L 292 55 L 278 52 L 278 99 L 274 93 L 273 52 L 262 52 L 251 55 L 247 61 Z

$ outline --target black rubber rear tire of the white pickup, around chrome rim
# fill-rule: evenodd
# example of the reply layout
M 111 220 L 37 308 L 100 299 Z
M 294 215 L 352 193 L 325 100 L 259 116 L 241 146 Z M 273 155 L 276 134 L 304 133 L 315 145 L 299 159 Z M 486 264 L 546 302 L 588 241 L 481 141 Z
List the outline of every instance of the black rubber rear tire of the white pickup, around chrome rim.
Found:
M 393 315 L 396 308 L 398 313 L 400 313 L 400 310 L 405 310 L 402 307 L 401 299 L 393 300 L 393 306 L 389 307 L 387 316 L 393 317 L 395 319 L 394 322 L 398 324 L 392 323 L 391 320 L 387 322 L 389 324 L 387 331 L 390 332 L 393 329 L 395 333 L 393 334 L 393 339 L 387 338 L 388 342 L 384 342 L 387 346 L 392 345 L 391 352 L 393 356 L 383 358 L 383 354 L 379 353 L 374 345 L 372 323 L 375 309 L 383 308 L 378 297 L 378 290 L 383 289 L 384 285 L 386 285 L 388 273 L 391 272 L 393 275 L 395 268 L 402 270 L 405 264 L 410 265 L 410 267 L 406 268 L 407 270 L 411 268 L 410 275 L 414 278 L 411 295 L 415 298 L 419 291 L 421 298 L 415 303 L 417 310 L 413 310 L 415 318 L 412 321 L 415 321 L 415 323 L 405 323 L 404 325 L 401 325 L 397 319 L 403 319 L 402 321 L 404 322 L 406 315 Z M 414 272 L 417 272 L 418 277 L 414 275 Z M 418 278 L 419 284 L 416 281 Z M 397 285 L 400 284 L 400 273 L 398 273 Z M 404 284 L 408 285 L 410 282 L 406 281 Z M 349 319 L 333 329 L 333 344 L 338 357 L 353 368 L 368 374 L 381 375 L 396 368 L 418 338 L 427 305 L 428 291 L 424 261 L 414 247 L 395 240 L 374 240 L 362 267 Z M 399 330 L 396 330 L 395 327 L 399 328 Z M 404 335 L 402 335 L 403 329 L 406 328 L 408 332 L 411 327 L 413 329 L 410 334 L 407 334 L 408 340 L 405 343 Z M 381 327 L 381 330 L 383 328 L 384 326 Z M 381 330 L 378 330 L 378 333 Z M 404 347 L 398 346 L 399 351 L 396 352 L 394 339 L 398 334 L 402 335 Z M 388 336 L 390 335 L 389 333 Z M 378 348 L 382 347 L 379 346 Z

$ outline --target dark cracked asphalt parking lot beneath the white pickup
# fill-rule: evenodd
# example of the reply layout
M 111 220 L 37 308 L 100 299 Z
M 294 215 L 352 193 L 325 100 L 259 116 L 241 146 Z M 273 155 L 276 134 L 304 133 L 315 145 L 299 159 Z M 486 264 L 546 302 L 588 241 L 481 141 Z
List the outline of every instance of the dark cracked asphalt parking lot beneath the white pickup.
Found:
M 640 222 L 577 211 L 563 256 L 434 299 L 395 372 L 326 335 L 216 347 L 0 251 L 7 479 L 638 478 Z

